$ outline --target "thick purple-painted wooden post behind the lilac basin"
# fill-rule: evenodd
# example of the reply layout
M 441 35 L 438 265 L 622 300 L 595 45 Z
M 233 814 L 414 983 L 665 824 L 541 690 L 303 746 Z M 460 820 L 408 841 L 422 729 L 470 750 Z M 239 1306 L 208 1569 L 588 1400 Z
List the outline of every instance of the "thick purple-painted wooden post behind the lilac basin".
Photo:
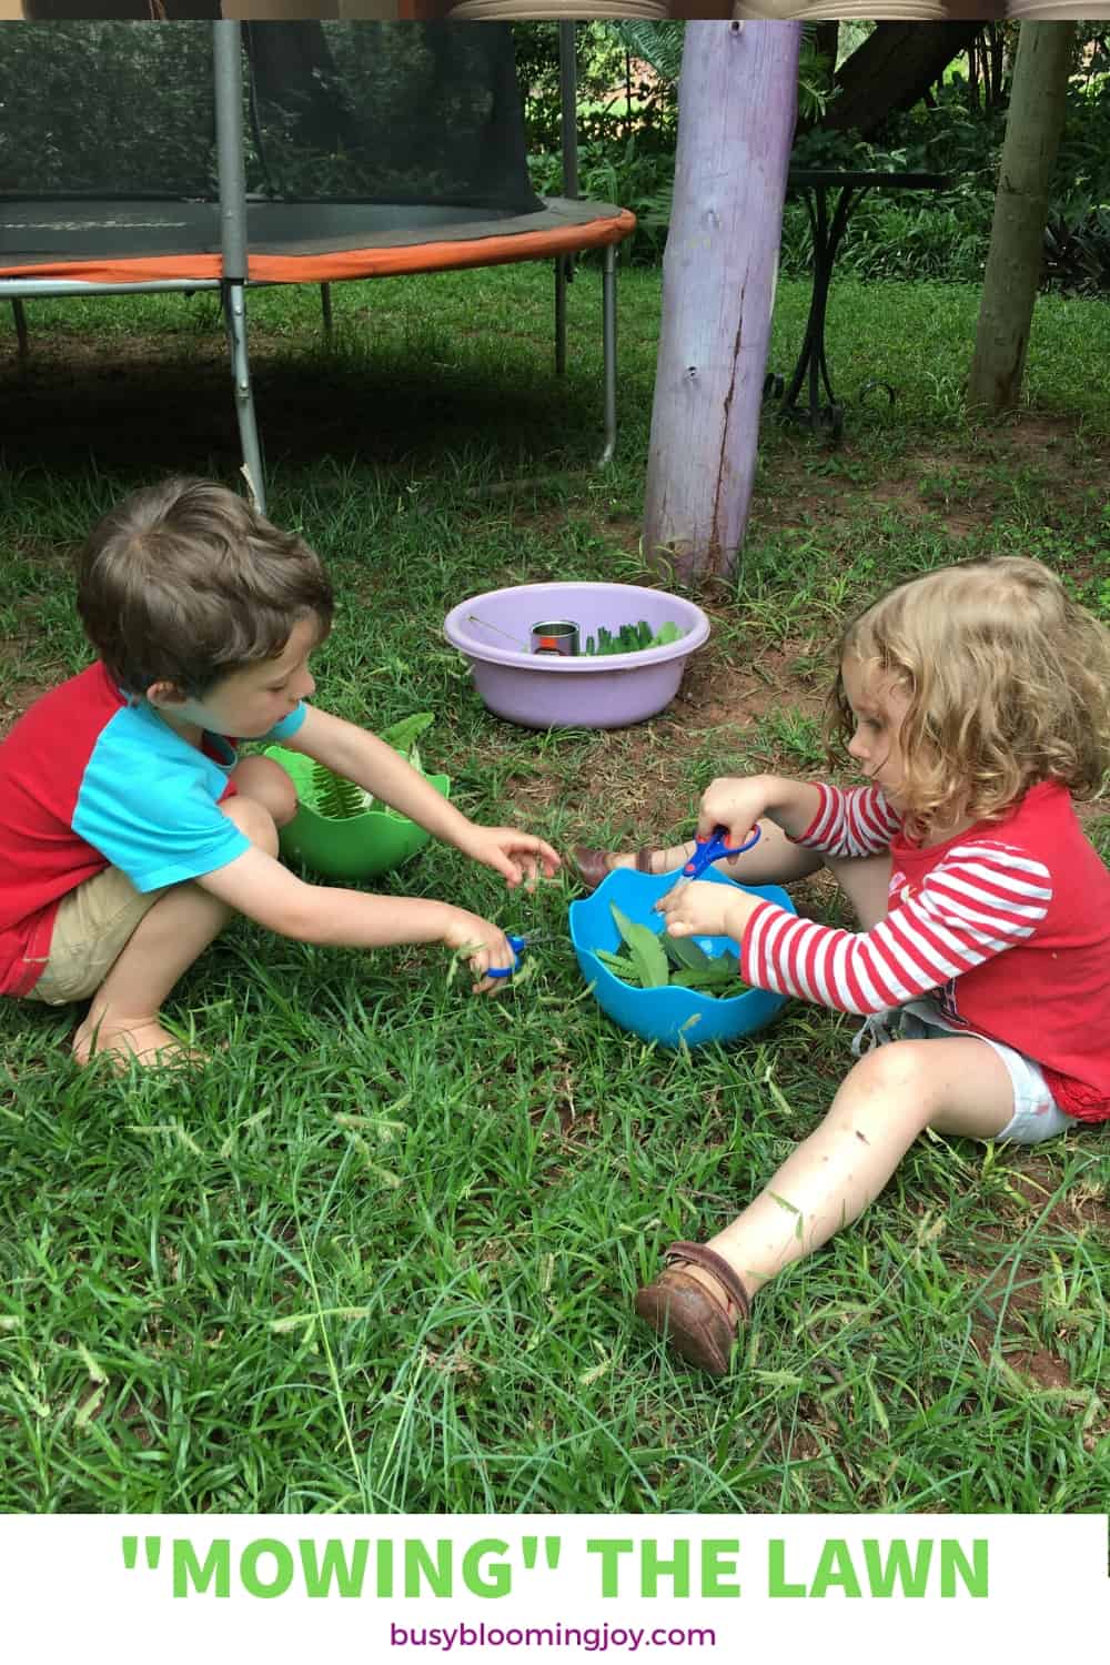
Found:
M 644 549 L 731 574 L 756 473 L 800 23 L 692 22 L 647 455 Z

